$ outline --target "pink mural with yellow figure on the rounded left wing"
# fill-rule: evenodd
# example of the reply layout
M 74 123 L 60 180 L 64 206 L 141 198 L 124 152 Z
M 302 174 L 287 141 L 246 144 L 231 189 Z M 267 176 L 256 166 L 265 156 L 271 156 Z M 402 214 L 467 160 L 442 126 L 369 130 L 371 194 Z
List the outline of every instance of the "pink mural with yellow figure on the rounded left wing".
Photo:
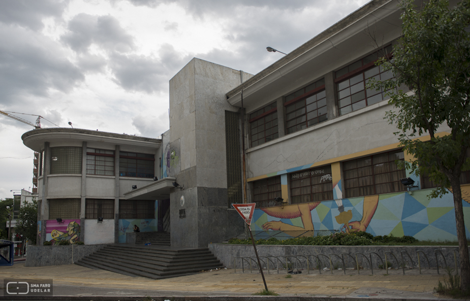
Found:
M 55 219 L 46 220 L 46 241 L 55 245 L 65 240 L 71 245 L 80 241 L 80 220 L 64 219 L 61 222 Z

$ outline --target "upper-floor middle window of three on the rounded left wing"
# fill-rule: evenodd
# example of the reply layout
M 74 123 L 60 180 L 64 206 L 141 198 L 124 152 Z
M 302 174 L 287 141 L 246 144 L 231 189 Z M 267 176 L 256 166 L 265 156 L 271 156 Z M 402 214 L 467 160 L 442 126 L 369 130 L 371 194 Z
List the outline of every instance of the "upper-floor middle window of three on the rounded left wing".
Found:
M 86 173 L 89 175 L 114 176 L 114 151 L 87 148 Z

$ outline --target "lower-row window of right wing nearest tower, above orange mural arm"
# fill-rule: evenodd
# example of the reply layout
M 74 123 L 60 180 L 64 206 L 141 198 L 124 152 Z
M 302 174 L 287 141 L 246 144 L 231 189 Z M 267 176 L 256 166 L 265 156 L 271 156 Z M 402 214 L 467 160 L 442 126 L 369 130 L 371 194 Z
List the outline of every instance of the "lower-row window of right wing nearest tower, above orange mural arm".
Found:
M 280 205 L 274 198 L 281 196 L 280 176 L 253 182 L 253 198 L 256 208 Z

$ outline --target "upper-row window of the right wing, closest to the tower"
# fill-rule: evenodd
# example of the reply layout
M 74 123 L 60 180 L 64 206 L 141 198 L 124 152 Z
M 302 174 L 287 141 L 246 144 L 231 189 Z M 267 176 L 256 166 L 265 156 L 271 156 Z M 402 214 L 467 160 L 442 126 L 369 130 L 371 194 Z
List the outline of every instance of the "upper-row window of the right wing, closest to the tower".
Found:
M 249 126 L 252 147 L 279 137 L 276 102 L 249 114 Z

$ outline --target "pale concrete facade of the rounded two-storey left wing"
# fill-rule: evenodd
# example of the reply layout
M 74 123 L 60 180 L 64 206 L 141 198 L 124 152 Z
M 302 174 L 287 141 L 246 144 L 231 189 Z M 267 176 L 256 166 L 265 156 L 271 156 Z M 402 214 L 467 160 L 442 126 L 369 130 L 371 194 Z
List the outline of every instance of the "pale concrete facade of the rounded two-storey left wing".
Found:
M 56 224 L 56 217 L 50 217 L 49 212 L 51 202 L 62 202 L 68 199 L 75 199 L 80 203 L 79 216 L 68 220 L 68 222 L 74 223 L 75 228 L 77 228 L 79 241 L 87 245 L 118 242 L 120 235 L 118 227 L 119 200 L 124 199 L 124 193 L 132 190 L 133 185 L 142 187 L 153 182 L 152 178 L 121 176 L 119 173 L 120 152 L 143 153 L 154 156 L 155 160 L 152 162 L 153 172 L 155 176 L 161 177 L 161 139 L 74 128 L 35 129 L 24 133 L 22 139 L 27 147 L 39 152 L 41 160 L 43 160 L 41 174 L 38 178 L 38 202 L 40 206 L 38 210 L 38 227 L 41 235 L 38 236 L 37 243 L 40 245 L 46 240 L 50 240 L 50 227 L 58 229 L 67 226 L 60 223 Z M 67 157 L 67 155 L 61 158 L 52 157 L 51 150 L 58 147 L 75 147 L 79 150 L 82 154 L 80 173 L 51 174 L 51 163 L 54 160 L 60 162 L 60 160 L 65 159 L 70 161 L 67 164 L 73 164 L 72 158 Z M 114 152 L 113 175 L 87 173 L 87 148 Z M 97 222 L 96 218 L 85 219 L 87 199 L 104 199 L 113 202 L 114 218 L 105 218 L 103 222 Z M 60 205 L 60 203 L 58 204 Z M 155 219 L 154 215 L 153 219 Z M 153 223 L 156 224 L 156 221 L 153 221 Z M 69 226 L 67 231 L 69 229 L 71 231 L 72 226 Z M 126 230 L 127 228 L 123 230 L 124 234 Z

